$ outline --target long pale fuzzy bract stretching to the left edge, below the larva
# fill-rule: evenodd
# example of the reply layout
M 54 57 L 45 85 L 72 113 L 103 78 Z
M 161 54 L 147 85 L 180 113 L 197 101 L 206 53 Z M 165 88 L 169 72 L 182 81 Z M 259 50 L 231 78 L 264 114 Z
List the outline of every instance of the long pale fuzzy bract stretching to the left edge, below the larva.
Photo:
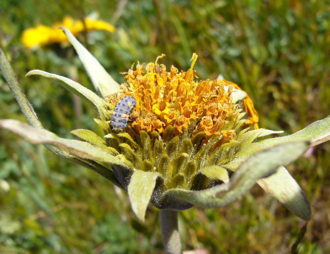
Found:
M 127 165 L 117 157 L 84 141 L 61 138 L 51 131 L 31 127 L 17 120 L 2 119 L 0 120 L 0 127 L 20 135 L 32 144 L 51 144 L 79 158 L 102 161 L 110 165 L 127 168 Z

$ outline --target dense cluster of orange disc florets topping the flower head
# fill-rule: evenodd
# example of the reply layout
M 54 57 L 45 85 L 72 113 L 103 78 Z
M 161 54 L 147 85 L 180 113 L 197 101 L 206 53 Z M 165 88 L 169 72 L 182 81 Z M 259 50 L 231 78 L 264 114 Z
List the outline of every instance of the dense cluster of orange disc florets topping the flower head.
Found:
M 192 69 L 197 55 L 193 56 L 191 68 L 186 72 L 178 71 L 174 66 L 166 71 L 164 64 L 149 63 L 143 70 L 143 64 L 137 64 L 136 70 L 126 72 L 126 83 L 121 91 L 110 96 L 110 103 L 116 104 L 124 96 L 133 96 L 136 100 L 135 110 L 131 117 L 137 117 L 131 124 L 139 133 L 154 130 L 163 133 L 169 125 L 176 134 L 182 133 L 195 120 L 195 132 L 205 131 L 207 136 L 224 135 L 221 131 L 226 119 L 239 115 L 240 110 L 234 107 L 232 88 L 225 89 L 222 80 L 194 81 L 195 70 Z M 226 132 L 227 133 L 227 132 Z M 233 137 L 233 135 L 227 135 Z

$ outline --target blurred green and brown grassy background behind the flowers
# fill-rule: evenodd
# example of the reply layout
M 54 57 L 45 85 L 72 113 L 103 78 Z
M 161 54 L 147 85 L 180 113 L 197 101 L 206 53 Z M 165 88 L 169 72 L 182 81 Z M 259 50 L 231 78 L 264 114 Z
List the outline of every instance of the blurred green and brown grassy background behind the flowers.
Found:
M 0 46 L 45 128 L 66 138 L 89 128 L 96 111 L 56 82 L 24 77 L 31 69 L 67 76 L 92 89 L 68 43 L 27 49 L 24 29 L 53 26 L 64 16 L 91 15 L 115 33 L 81 32 L 79 40 L 105 69 L 155 62 L 187 70 L 192 53 L 201 79 L 221 73 L 248 92 L 259 127 L 293 133 L 330 115 L 329 0 L 1 0 Z M 0 74 L 0 118 L 26 122 Z M 312 220 L 299 254 L 330 253 L 330 143 L 287 168 L 311 200 Z M 45 147 L 0 130 L 0 253 L 161 254 L 157 209 L 146 223 L 125 192 Z M 210 253 L 290 253 L 304 221 L 255 186 L 222 208 L 179 213 L 184 250 Z

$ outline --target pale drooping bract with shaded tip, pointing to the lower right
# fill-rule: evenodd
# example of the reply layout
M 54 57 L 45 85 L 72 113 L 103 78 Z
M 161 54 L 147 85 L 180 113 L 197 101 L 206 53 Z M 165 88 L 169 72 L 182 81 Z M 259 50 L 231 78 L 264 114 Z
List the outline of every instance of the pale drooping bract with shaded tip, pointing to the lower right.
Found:
M 267 178 L 257 180 L 257 184 L 298 217 L 311 219 L 311 206 L 305 192 L 284 167 L 279 167 L 275 174 Z

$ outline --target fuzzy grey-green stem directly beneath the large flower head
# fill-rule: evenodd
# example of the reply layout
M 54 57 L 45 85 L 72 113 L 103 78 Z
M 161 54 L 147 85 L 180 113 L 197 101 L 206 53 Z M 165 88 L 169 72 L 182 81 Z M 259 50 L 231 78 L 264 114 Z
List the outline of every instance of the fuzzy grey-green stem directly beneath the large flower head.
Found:
M 177 211 L 160 209 L 159 216 L 165 253 L 182 254 Z

